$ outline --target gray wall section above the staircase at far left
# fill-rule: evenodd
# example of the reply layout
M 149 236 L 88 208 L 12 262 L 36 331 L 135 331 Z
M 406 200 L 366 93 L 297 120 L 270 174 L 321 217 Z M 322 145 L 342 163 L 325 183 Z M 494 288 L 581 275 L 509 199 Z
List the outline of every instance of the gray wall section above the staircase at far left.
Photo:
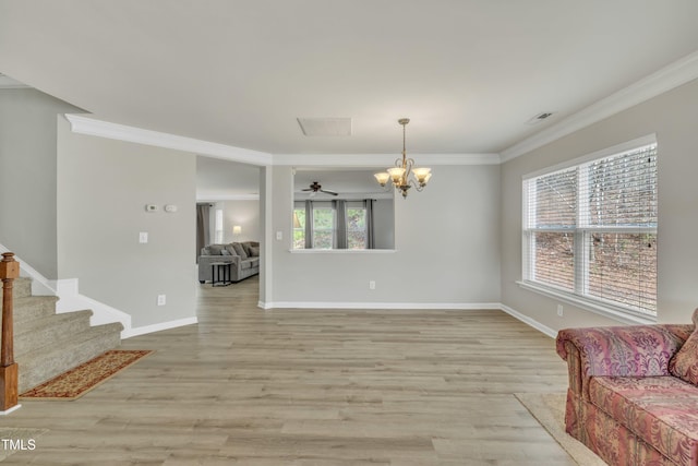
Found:
M 31 88 L 0 89 L 0 244 L 58 277 L 56 119 L 82 112 Z

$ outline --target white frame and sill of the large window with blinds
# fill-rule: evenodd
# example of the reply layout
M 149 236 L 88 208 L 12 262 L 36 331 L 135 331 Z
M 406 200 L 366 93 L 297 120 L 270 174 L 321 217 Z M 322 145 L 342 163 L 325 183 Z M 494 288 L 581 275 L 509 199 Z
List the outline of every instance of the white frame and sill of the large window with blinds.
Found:
M 582 157 L 578 157 L 568 160 L 563 164 L 557 164 L 552 167 L 547 167 L 535 172 L 527 174 L 522 176 L 521 182 L 521 280 L 517 282 L 522 288 L 540 292 L 547 297 L 565 301 L 567 303 L 580 307 L 582 309 L 610 316 L 614 320 L 618 320 L 625 323 L 652 323 L 657 322 L 657 312 L 636 309 L 630 306 L 625 306 L 619 302 L 603 299 L 598 296 L 590 296 L 590 259 L 589 259 L 589 240 L 593 234 L 658 234 L 659 225 L 657 226 L 593 226 L 587 223 L 587 205 L 585 205 L 586 199 L 588 199 L 588 187 L 586 183 L 578 183 L 577 186 L 577 208 L 576 208 L 576 225 L 574 227 L 558 227 L 558 228 L 532 228 L 530 220 L 531 214 L 529 205 L 529 191 L 528 183 L 531 180 L 540 178 L 542 176 L 554 175 L 564 170 L 576 169 L 578 180 L 583 179 L 587 176 L 585 170 L 588 170 L 591 164 L 595 160 L 609 158 L 613 156 L 619 156 L 638 150 L 642 150 L 650 145 L 657 145 L 657 136 L 650 134 L 643 138 L 639 138 L 633 141 L 628 141 L 623 144 L 618 144 L 612 147 L 604 148 L 602 151 L 588 154 Z M 567 232 L 574 235 L 574 285 L 571 291 L 562 286 L 555 286 L 552 284 L 541 283 L 531 279 L 534 266 L 534 248 L 535 248 L 535 232 Z

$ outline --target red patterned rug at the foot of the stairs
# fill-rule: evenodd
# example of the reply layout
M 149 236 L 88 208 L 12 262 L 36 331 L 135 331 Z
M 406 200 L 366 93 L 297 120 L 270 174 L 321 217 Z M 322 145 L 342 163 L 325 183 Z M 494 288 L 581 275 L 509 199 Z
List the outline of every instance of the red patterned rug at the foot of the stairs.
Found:
M 153 353 L 149 349 L 112 349 L 83 362 L 20 395 L 23 399 L 75 399 L 106 382 L 120 370 Z M 21 369 L 20 369 L 21 370 Z

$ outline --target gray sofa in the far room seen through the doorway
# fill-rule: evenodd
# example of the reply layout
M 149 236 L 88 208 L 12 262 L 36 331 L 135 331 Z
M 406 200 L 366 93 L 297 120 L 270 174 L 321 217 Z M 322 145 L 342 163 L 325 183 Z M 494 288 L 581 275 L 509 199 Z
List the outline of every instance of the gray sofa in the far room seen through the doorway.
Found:
M 260 243 L 256 241 L 208 244 L 198 256 L 198 282 L 213 282 L 214 262 L 230 262 L 230 280 L 240 282 L 260 273 Z

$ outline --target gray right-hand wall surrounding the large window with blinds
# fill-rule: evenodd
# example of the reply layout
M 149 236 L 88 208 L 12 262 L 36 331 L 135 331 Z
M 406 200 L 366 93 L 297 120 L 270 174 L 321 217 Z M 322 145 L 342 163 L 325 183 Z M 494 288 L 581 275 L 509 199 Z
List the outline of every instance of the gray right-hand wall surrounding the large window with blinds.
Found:
M 553 330 L 617 324 L 521 289 L 521 177 L 655 133 L 659 164 L 658 320 L 689 322 L 698 307 L 698 81 L 637 105 L 502 166 L 502 302 Z

